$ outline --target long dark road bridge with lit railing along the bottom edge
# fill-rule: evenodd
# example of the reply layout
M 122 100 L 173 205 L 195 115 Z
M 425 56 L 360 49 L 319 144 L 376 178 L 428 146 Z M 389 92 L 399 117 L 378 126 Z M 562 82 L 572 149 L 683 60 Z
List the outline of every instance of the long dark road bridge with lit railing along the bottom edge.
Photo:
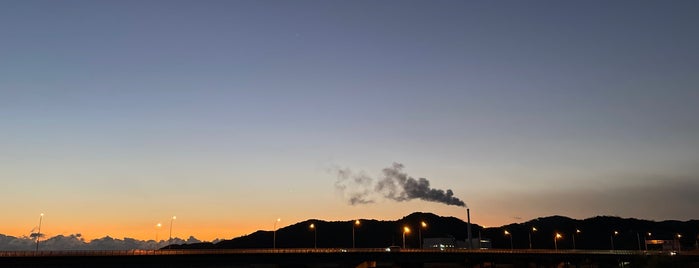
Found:
M 0 267 L 699 267 L 699 252 L 467 249 L 0 251 Z

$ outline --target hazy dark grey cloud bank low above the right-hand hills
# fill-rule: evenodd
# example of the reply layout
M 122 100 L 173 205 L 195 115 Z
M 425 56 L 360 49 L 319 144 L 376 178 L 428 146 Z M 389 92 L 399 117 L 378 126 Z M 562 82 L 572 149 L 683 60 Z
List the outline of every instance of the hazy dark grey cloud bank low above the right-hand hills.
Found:
M 609 180 L 627 183 L 510 192 L 507 198 L 493 198 L 489 202 L 502 208 L 502 213 L 527 211 L 529 214 L 524 218 L 552 212 L 572 217 L 616 215 L 655 220 L 699 217 L 696 212 L 699 176 L 623 176 Z

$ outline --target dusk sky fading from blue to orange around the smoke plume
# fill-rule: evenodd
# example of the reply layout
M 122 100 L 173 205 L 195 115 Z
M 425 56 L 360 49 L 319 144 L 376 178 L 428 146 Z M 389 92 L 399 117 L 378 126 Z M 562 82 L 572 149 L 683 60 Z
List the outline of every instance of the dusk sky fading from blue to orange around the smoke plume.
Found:
M 40 213 L 47 236 L 85 239 L 466 218 L 417 199 L 351 205 L 337 187 L 339 171 L 378 181 L 394 163 L 484 226 L 697 219 L 697 13 L 683 0 L 0 1 L 0 234 L 29 235 Z

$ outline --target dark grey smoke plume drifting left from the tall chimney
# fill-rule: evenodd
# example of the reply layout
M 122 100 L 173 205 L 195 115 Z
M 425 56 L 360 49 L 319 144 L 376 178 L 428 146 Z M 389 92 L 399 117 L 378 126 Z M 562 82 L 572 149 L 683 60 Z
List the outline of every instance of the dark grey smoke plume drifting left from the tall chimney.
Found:
M 383 169 L 383 178 L 374 185 L 373 179 L 365 174 L 354 175 L 348 169 L 338 169 L 338 181 L 335 186 L 345 193 L 351 205 L 373 203 L 374 195 L 403 202 L 420 199 L 447 205 L 465 207 L 466 203 L 454 196 L 451 189 L 441 190 L 430 188 L 430 182 L 425 178 L 414 179 L 403 172 L 403 165 L 393 163 L 393 166 Z M 347 194 L 349 192 L 349 194 Z

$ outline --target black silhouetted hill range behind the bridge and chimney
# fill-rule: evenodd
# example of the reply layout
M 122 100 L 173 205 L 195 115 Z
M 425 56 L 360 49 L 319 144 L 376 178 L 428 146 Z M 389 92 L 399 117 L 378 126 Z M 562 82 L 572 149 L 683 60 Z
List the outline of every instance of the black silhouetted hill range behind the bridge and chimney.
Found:
M 455 217 L 441 217 L 432 213 L 416 212 L 395 221 L 360 220 L 359 226 L 354 221 L 323 221 L 306 220 L 277 230 L 277 248 L 312 248 L 314 246 L 314 224 L 317 232 L 319 248 L 351 248 L 352 228 L 355 232 L 355 244 L 358 248 L 380 248 L 391 245 L 402 245 L 403 227 L 411 230 L 406 235 L 406 245 L 409 248 L 419 247 L 418 227 L 420 222 L 427 223 L 427 228 L 421 229 L 423 238 L 453 237 L 466 240 L 467 224 Z M 531 231 L 535 227 L 537 231 Z M 492 241 L 493 248 L 509 248 L 510 236 L 505 236 L 507 230 L 512 236 L 514 248 L 529 248 L 531 232 L 533 248 L 554 248 L 554 236 L 560 233 L 562 238 L 556 242 L 559 249 L 572 249 L 573 239 L 577 249 L 610 249 L 614 240 L 615 249 L 644 248 L 644 240 L 663 239 L 679 242 L 684 249 L 693 249 L 699 236 L 699 220 L 690 221 L 648 221 L 625 219 L 610 216 L 576 220 L 563 216 L 550 216 L 533 219 L 523 223 L 513 223 L 501 227 L 483 228 L 473 224 L 473 237 L 479 236 Z M 576 233 L 576 230 L 580 230 Z M 614 234 L 617 231 L 618 234 Z M 651 235 L 648 236 L 648 233 Z M 677 235 L 681 234 L 678 238 Z M 573 236 L 575 236 L 573 238 Z M 256 231 L 252 234 L 223 240 L 218 243 L 198 243 L 173 245 L 173 248 L 271 248 L 274 232 Z M 640 243 L 639 243 L 640 242 Z

